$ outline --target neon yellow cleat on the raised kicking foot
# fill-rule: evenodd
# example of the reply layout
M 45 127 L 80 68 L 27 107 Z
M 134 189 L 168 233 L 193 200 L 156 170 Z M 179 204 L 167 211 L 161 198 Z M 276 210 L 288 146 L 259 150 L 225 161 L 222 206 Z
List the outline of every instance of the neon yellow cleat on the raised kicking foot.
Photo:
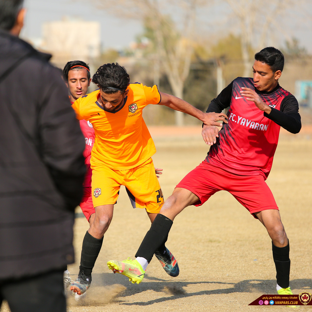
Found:
M 145 271 L 142 266 L 137 260 L 132 260 L 131 258 L 124 261 L 110 260 L 107 262 L 107 266 L 114 273 L 117 272 L 129 277 L 129 281 L 132 284 L 139 284 L 144 278 Z

